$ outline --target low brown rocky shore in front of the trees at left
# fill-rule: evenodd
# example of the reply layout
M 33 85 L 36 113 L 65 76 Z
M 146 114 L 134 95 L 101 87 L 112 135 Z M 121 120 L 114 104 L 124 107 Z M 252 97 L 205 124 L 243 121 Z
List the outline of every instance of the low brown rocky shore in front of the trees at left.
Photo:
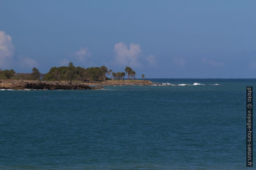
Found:
M 44 90 L 92 90 L 104 87 L 91 87 L 83 83 L 52 82 L 52 81 L 20 81 L 6 80 L 0 83 L 0 89 L 44 89 Z

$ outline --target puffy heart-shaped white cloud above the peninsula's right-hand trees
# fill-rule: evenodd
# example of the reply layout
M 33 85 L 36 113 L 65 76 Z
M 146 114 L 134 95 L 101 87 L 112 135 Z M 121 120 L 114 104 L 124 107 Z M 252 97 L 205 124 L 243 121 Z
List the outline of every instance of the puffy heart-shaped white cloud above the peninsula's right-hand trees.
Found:
M 115 62 L 131 67 L 140 66 L 139 56 L 142 53 L 139 44 L 131 43 L 129 48 L 123 43 L 119 42 L 114 45 Z

